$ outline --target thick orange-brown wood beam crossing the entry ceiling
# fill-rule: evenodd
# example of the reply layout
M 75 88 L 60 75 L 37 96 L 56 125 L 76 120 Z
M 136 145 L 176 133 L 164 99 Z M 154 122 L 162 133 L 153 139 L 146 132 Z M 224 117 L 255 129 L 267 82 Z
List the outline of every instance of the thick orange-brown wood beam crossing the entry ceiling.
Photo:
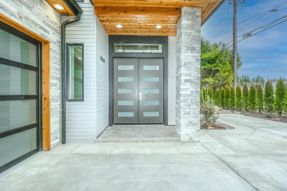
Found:
M 181 16 L 181 8 L 169 7 L 107 7 L 95 6 L 96 15 L 173 15 Z

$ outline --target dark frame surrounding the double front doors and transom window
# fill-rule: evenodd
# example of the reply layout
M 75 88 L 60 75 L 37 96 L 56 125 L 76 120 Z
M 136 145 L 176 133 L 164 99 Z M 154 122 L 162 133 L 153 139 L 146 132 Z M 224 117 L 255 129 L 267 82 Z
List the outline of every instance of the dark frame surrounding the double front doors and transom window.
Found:
M 164 53 L 114 53 L 113 43 L 157 43 L 164 44 Z M 163 123 L 168 124 L 168 36 L 108 36 L 108 126 L 113 126 L 113 58 L 163 58 Z

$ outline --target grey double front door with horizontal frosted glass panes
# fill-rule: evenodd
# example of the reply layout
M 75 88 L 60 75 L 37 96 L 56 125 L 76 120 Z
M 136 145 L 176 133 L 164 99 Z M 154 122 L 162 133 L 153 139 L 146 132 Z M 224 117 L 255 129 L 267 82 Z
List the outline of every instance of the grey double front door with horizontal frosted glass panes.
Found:
M 163 58 L 114 58 L 114 123 L 163 123 Z

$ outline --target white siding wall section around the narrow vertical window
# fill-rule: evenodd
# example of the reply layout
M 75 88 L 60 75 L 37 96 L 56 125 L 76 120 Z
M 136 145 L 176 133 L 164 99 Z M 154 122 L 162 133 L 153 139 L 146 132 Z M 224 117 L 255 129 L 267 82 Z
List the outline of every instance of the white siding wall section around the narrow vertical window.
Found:
M 95 140 L 95 13 L 89 0 L 79 3 L 81 19 L 66 26 L 66 43 L 84 43 L 84 101 L 66 101 L 67 143 Z

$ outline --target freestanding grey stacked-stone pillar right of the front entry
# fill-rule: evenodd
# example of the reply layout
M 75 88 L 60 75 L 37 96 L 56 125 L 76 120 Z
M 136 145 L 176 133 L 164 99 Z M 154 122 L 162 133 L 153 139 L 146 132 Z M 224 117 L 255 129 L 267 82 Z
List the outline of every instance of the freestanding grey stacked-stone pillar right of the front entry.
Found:
M 177 23 L 175 128 L 181 142 L 199 142 L 201 9 L 182 7 Z

